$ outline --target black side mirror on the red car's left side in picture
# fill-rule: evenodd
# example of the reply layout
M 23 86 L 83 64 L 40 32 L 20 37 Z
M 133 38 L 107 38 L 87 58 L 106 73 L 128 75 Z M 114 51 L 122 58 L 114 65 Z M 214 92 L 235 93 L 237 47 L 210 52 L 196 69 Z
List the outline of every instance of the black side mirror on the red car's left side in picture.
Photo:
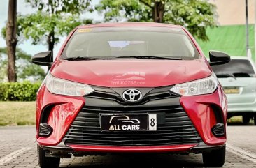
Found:
M 52 52 L 39 52 L 38 54 L 32 56 L 31 61 L 32 63 L 37 64 L 39 66 L 51 67 L 53 62 Z

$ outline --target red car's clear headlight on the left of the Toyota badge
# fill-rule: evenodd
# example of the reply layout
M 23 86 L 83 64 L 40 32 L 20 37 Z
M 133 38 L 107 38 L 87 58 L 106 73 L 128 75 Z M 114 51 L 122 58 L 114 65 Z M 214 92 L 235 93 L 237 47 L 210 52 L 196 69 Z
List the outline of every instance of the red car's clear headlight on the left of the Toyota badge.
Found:
M 46 79 L 46 88 L 50 93 L 67 96 L 83 96 L 94 91 L 92 87 L 87 84 L 79 84 L 57 77 L 52 77 L 50 73 Z

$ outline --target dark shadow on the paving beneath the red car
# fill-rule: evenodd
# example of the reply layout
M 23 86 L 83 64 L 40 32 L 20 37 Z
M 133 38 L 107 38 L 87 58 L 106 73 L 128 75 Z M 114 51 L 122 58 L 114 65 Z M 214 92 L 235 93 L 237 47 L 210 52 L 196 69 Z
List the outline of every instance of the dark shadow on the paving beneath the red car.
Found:
M 168 155 L 168 154 L 129 154 L 89 156 L 70 160 L 68 165 L 60 167 L 73 168 L 170 168 L 170 167 L 204 167 L 201 154 Z

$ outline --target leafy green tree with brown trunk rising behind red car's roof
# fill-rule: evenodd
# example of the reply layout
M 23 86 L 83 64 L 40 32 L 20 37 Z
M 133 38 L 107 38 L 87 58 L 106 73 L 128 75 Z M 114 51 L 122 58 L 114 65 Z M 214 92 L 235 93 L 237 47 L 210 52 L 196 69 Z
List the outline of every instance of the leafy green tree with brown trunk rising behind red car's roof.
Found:
M 96 9 L 105 22 L 161 22 L 185 26 L 193 36 L 208 40 L 206 27 L 215 26 L 215 6 L 207 0 L 101 0 Z

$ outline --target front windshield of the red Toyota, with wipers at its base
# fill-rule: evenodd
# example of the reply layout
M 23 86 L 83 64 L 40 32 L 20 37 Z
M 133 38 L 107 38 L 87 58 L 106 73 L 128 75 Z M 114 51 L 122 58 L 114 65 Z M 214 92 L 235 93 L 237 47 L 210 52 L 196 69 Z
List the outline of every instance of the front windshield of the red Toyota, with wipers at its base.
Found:
M 199 59 L 199 54 L 183 29 L 114 26 L 76 30 L 62 53 L 62 59 L 77 60 L 85 57 L 178 60 Z

